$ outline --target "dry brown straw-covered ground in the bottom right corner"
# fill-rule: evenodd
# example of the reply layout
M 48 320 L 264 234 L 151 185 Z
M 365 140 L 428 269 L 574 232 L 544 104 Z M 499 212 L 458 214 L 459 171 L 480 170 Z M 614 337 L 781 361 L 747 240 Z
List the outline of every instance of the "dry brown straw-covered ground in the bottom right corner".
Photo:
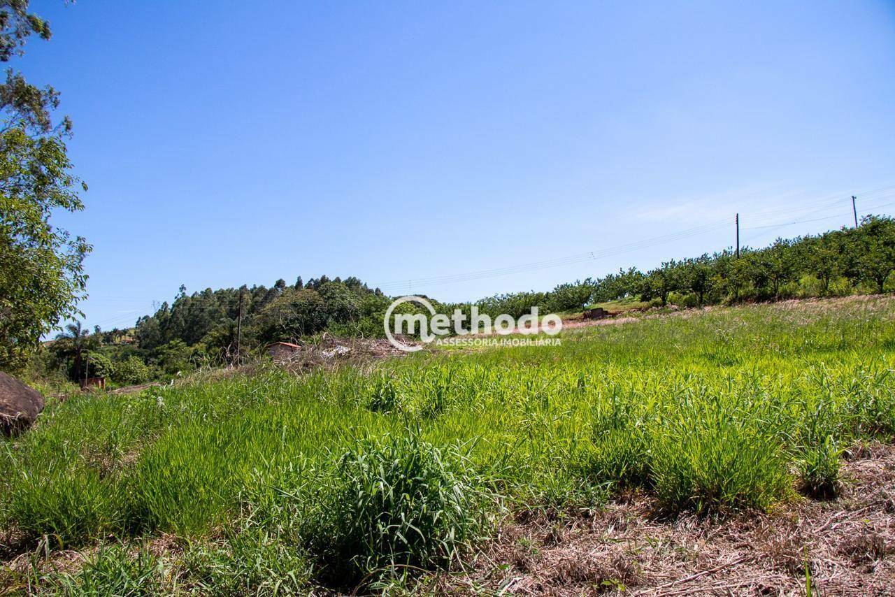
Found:
M 843 465 L 840 499 L 799 499 L 770 515 L 657 518 L 640 495 L 599 512 L 523 513 L 436 593 L 536 595 L 895 594 L 895 447 Z

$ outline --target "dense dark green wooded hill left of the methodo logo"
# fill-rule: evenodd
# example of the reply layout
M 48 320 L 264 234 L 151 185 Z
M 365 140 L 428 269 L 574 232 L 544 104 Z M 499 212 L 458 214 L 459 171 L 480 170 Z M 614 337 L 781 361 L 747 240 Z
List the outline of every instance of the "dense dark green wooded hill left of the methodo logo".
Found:
M 240 315 L 242 295 L 242 325 Z M 166 380 L 201 366 L 234 362 L 237 328 L 243 354 L 279 340 L 298 341 L 327 331 L 344 337 L 381 336 L 390 299 L 357 277 L 279 279 L 267 286 L 207 288 L 187 294 L 181 286 L 134 328 L 93 332 L 66 326 L 32 359 L 32 377 L 82 380 L 109 377 L 119 384 Z

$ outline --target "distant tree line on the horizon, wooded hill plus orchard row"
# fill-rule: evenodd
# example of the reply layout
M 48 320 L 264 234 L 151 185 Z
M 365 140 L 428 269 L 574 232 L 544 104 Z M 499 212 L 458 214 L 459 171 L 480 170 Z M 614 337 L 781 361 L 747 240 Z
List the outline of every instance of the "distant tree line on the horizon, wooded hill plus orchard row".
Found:
M 492 318 L 501 313 L 518 318 L 533 307 L 541 314 L 582 311 L 619 300 L 656 308 L 697 307 L 885 292 L 892 290 L 893 269 L 895 220 L 874 216 L 865 217 L 857 228 L 778 239 L 767 247 L 746 247 L 738 255 L 728 249 L 667 260 L 645 272 L 620 269 L 606 277 L 560 284 L 549 292 L 496 294 L 474 303 L 430 301 L 448 315 L 455 309 L 468 315 L 474 305 Z M 207 288 L 192 294 L 181 286 L 172 303 L 162 303 L 154 314 L 141 317 L 135 328 L 94 328 L 91 334 L 80 324 L 69 326 L 42 353 L 39 368 L 72 380 L 107 375 L 124 384 L 233 362 L 240 294 L 245 354 L 272 342 L 301 341 L 322 332 L 382 337 L 382 321 L 392 301 L 357 277 L 320 276 L 307 283 L 299 277 L 294 284 L 279 279 L 269 288 Z

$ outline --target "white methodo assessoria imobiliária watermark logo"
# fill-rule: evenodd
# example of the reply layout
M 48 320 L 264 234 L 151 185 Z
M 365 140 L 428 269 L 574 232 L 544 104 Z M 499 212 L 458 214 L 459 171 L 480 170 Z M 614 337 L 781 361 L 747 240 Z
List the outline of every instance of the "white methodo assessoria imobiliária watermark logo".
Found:
M 395 312 L 395 309 L 405 303 L 416 303 L 422 306 L 425 311 L 420 312 L 419 308 L 413 309 L 411 312 L 402 310 Z M 523 336 L 533 336 L 544 333 L 547 336 L 556 336 L 562 331 L 562 320 L 559 316 L 550 313 L 538 316 L 538 308 L 532 307 L 528 315 L 523 315 L 518 320 L 512 315 L 503 313 L 491 320 L 490 315 L 480 313 L 479 308 L 475 305 L 469 314 L 455 309 L 453 314 L 448 316 L 446 313 L 439 313 L 435 310 L 427 299 L 422 296 L 402 296 L 396 299 L 386 310 L 383 325 L 386 330 L 386 337 L 391 345 L 399 350 L 407 353 L 413 353 L 422 350 L 423 345 L 427 344 L 444 344 L 444 345 L 512 345 L 512 346 L 532 346 L 532 345 L 557 345 L 558 338 L 549 338 L 547 340 L 534 340 L 533 338 L 487 338 L 492 334 L 498 336 L 508 336 L 510 334 L 521 334 Z M 399 341 L 396 336 L 420 335 L 422 345 L 407 345 Z M 476 338 L 447 338 L 449 336 L 468 337 L 476 336 Z M 483 338 L 484 337 L 484 338 Z

